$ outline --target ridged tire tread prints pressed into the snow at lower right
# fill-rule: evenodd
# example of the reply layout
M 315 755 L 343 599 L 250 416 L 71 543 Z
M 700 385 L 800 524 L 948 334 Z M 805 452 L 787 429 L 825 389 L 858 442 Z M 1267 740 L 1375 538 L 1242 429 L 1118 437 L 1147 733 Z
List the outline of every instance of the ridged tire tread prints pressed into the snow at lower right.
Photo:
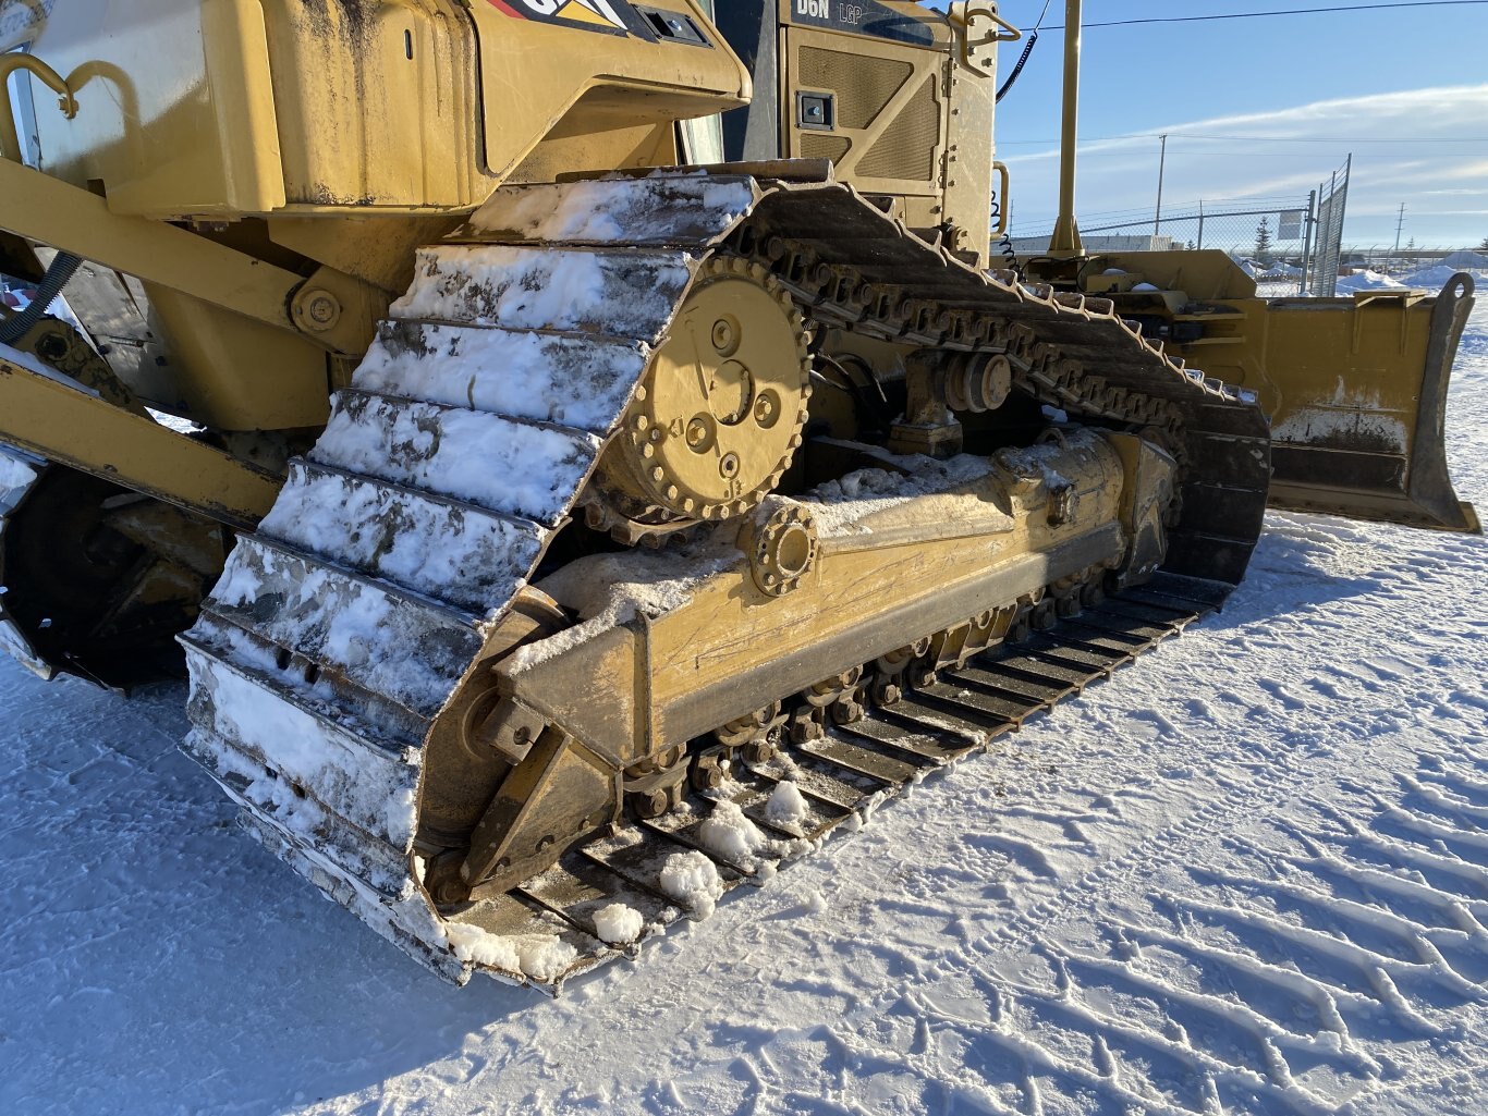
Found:
M 1348 756 L 1248 780 L 975 942 L 984 960 L 1027 946 L 1022 970 L 1006 960 L 975 970 L 994 1006 L 990 1022 L 943 1010 L 933 991 L 903 997 L 933 1031 L 966 1043 L 966 1071 L 946 1088 L 969 1110 L 997 1113 L 1043 1113 L 1048 1097 L 1085 1095 L 1100 1098 L 1097 1110 L 1312 1115 L 1390 1085 L 1397 1070 L 1381 1027 L 1449 1039 L 1460 1031 L 1452 1010 L 1484 1001 L 1475 976 L 1488 973 L 1488 903 L 1403 875 L 1430 865 L 1488 896 L 1482 865 L 1431 847 L 1442 826 L 1423 809 L 1481 787 L 1469 774 L 1475 757 L 1461 756 L 1469 771 L 1423 759 L 1415 777 L 1397 781 L 1399 801 L 1347 786 Z M 1439 790 L 1406 808 L 1423 781 Z M 1324 801 L 1336 790 L 1351 809 Z M 1257 817 L 1265 841 L 1216 836 Z M 1458 839 L 1488 863 L 1479 818 L 1469 808 L 1457 820 Z M 1336 832 L 1309 836 L 1329 821 Z M 1390 826 L 1411 836 L 1382 832 Z M 1202 891 L 1222 899 L 1162 888 L 1137 911 L 1101 914 L 1094 940 L 1061 940 L 1061 923 L 1083 917 L 1094 893 L 1165 873 L 1192 882 L 1186 863 L 1205 842 L 1228 848 L 1222 863 L 1251 869 L 1211 873 Z M 1400 900 L 1408 914 L 1391 909 Z M 1323 912 L 1327 930 L 1315 927 Z M 854 1056 L 875 1056 L 848 1028 L 833 1033 Z M 946 1070 L 926 1064 L 924 1073 L 943 1079 Z

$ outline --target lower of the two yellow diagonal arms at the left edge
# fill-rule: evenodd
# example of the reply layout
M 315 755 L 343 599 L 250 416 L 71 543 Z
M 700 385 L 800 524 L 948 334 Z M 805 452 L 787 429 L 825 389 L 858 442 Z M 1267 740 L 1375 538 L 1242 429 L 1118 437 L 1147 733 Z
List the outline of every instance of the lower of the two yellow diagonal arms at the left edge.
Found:
M 0 440 L 251 530 L 280 481 L 0 350 Z

